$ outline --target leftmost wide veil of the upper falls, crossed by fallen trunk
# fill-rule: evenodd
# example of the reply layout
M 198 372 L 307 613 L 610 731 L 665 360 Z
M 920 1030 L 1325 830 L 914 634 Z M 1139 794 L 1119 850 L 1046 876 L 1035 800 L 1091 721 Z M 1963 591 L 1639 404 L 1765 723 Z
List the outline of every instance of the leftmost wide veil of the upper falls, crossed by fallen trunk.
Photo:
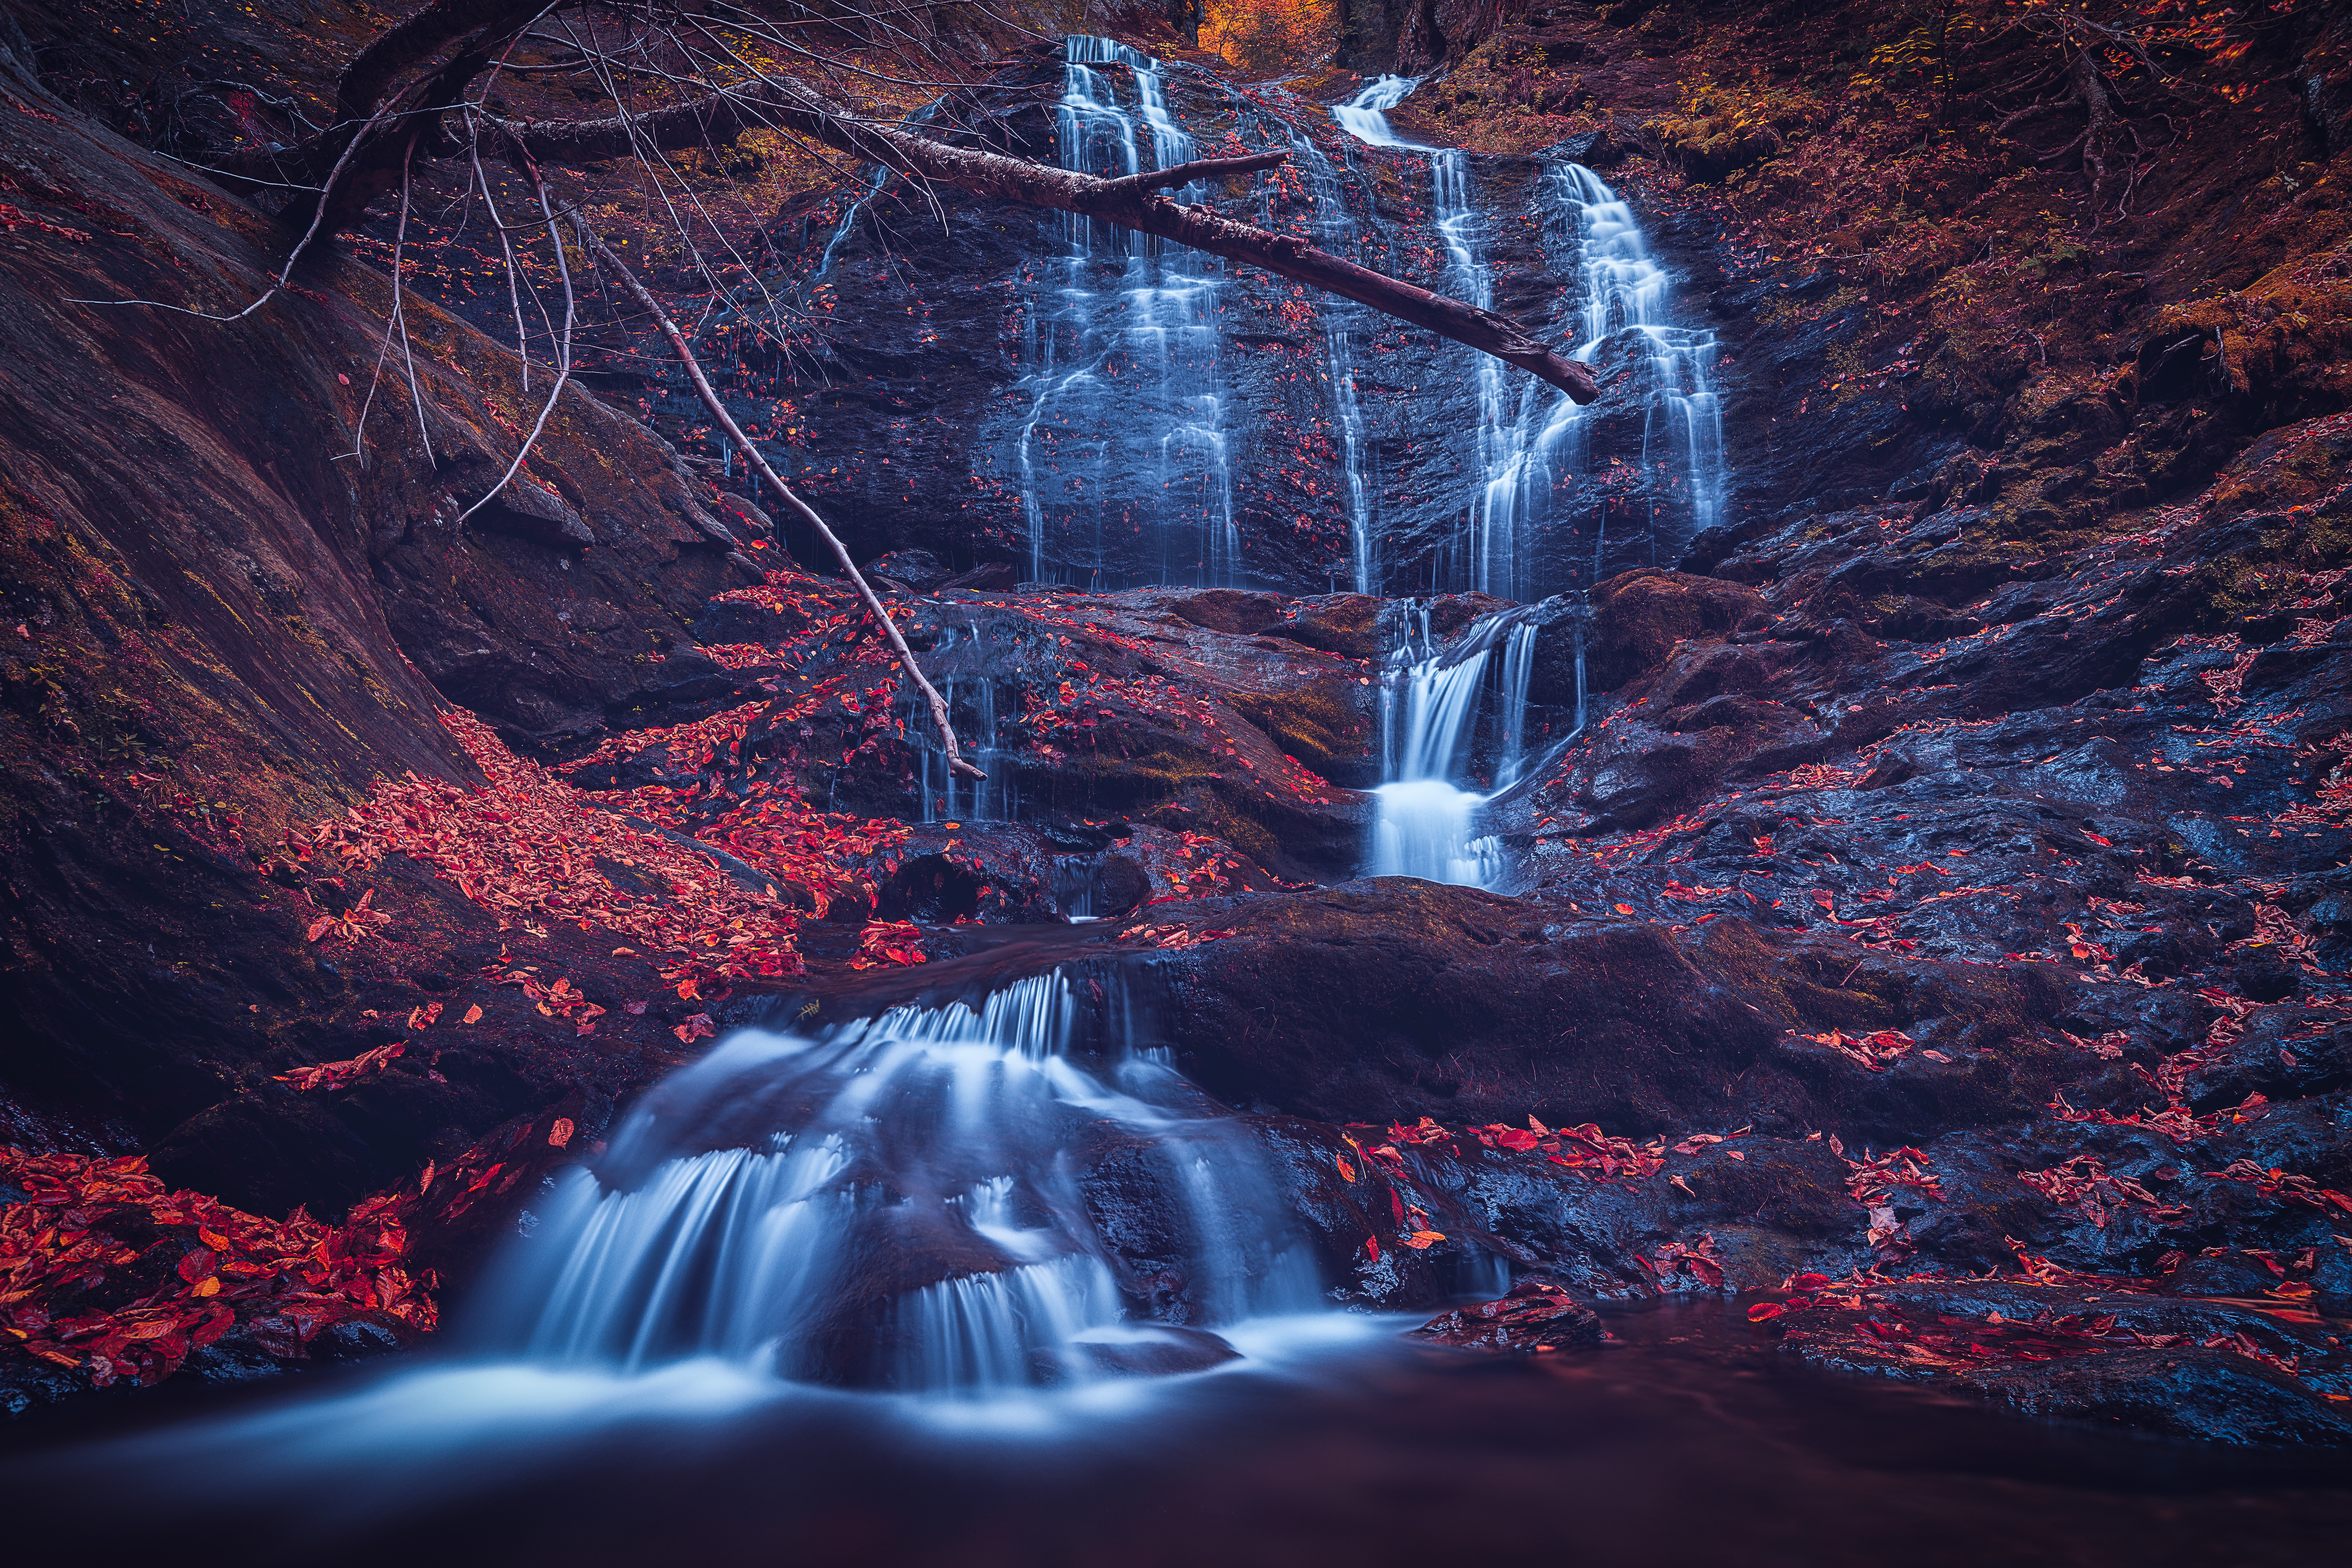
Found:
M 1054 108 L 1061 167 L 1117 176 L 1192 158 L 1162 71 L 1108 38 L 1070 38 Z M 1223 273 L 1209 256 L 1096 219 L 1058 214 L 1056 223 L 1058 254 L 1025 270 L 1018 306 L 1014 397 L 1025 416 L 1011 465 L 1030 578 L 1091 581 L 1112 529 L 1150 527 L 1157 581 L 1230 583 L 1240 531 L 1216 324 Z

